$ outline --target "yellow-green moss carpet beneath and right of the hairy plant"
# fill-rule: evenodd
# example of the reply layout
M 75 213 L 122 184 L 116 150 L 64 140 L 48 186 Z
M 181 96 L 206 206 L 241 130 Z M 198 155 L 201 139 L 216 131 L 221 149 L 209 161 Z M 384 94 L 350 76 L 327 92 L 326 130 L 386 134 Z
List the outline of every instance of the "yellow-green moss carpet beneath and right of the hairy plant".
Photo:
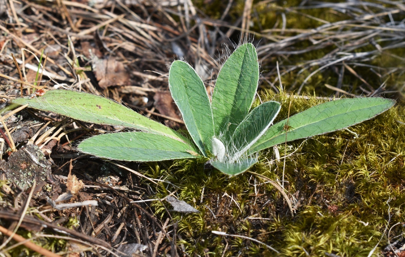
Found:
M 290 115 L 323 102 L 313 96 L 271 92 L 262 92 L 261 98 L 282 103 L 278 120 L 286 118 L 290 100 Z M 176 191 L 179 199 L 200 210 L 188 215 L 169 211 L 177 221 L 179 243 L 190 255 L 222 255 L 228 244 L 224 256 L 306 256 L 305 251 L 310 256 L 324 256 L 325 252 L 367 256 L 386 225 L 405 222 L 405 129 L 399 123 L 404 117 L 405 108 L 395 106 L 350 127 L 350 131 L 289 142 L 287 154 L 296 151 L 286 160 L 285 168 L 286 189 L 296 205 L 294 218 L 271 184 L 248 172 L 229 178 L 213 170 L 205 158 L 154 163 L 144 166 L 143 172 L 171 183 L 155 187 L 156 197 Z M 282 156 L 284 146 L 278 149 Z M 263 151 L 251 170 L 281 180 L 283 162 L 273 161 L 273 155 L 273 149 Z M 171 209 L 166 202 L 153 204 L 162 221 L 168 217 L 166 208 Z M 255 238 L 280 254 L 249 240 L 212 234 L 212 230 Z M 402 232 L 403 228 L 396 226 L 391 236 Z M 385 244 L 387 235 L 375 254 Z

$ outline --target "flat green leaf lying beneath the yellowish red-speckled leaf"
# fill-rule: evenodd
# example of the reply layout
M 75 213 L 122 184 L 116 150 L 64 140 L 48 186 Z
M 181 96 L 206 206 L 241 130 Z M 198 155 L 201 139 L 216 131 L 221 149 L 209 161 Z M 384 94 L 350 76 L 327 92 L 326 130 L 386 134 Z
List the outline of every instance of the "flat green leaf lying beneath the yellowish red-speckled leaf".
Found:
M 79 151 L 120 161 L 195 158 L 194 148 L 167 136 L 147 132 L 102 134 L 83 140 Z

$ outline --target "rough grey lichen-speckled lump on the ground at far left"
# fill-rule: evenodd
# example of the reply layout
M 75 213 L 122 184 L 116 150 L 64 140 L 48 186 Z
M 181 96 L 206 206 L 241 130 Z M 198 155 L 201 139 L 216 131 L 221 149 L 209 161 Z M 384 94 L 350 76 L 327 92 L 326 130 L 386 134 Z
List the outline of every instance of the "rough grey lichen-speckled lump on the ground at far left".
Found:
M 51 164 L 36 145 L 22 147 L 12 153 L 4 164 L 6 179 L 21 188 L 32 185 L 34 179 L 38 184 L 51 176 Z

